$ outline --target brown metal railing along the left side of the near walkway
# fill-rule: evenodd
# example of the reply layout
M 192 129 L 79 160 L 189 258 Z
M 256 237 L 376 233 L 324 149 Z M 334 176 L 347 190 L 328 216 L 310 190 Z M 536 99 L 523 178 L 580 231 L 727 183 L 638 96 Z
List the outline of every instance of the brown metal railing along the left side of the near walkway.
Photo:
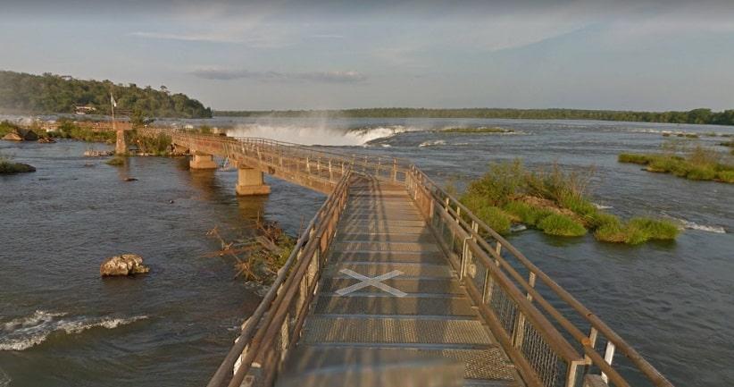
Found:
M 286 264 L 263 301 L 247 320 L 209 387 L 239 387 L 248 373 L 272 385 L 300 337 L 301 328 L 321 275 L 326 250 L 334 238 L 344 207 L 351 172 L 346 172 L 296 242 Z M 259 370 L 254 369 L 257 364 Z M 234 374 L 232 374 L 234 370 Z M 258 372 L 259 371 L 259 372 Z

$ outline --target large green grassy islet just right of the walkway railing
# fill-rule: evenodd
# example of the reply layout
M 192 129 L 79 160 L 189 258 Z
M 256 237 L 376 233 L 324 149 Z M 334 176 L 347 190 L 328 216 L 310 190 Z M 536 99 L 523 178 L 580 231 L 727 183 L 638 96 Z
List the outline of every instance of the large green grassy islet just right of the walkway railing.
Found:
M 671 221 L 636 217 L 624 222 L 597 208 L 587 193 L 592 175 L 593 170 L 564 172 L 558 164 L 536 171 L 520 160 L 490 164 L 460 200 L 500 234 L 522 223 L 549 235 L 578 237 L 592 231 L 596 240 L 631 245 L 676 238 L 680 230 Z

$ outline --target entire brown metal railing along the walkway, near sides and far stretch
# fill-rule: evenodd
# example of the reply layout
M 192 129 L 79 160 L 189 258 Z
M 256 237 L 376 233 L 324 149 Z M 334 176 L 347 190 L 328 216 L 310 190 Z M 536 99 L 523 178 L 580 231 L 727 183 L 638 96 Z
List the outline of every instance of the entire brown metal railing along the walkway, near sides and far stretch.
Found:
M 237 151 L 251 163 L 290 168 L 335 184 L 209 387 L 238 387 L 248 373 L 272 385 L 300 335 L 352 174 L 405 183 L 480 315 L 528 386 L 576 387 L 591 376 L 629 387 L 631 375 L 635 385 L 672 387 L 616 332 L 415 165 L 270 139 L 174 135 L 209 147 L 212 154 L 217 154 L 214 147 Z

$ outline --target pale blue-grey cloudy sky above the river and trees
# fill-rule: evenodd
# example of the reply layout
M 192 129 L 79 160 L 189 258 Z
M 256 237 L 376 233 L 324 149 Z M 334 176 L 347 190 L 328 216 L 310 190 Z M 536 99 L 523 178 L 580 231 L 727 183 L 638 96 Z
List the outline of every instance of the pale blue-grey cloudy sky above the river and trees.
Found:
M 0 0 L 0 70 L 217 110 L 734 108 L 734 1 Z

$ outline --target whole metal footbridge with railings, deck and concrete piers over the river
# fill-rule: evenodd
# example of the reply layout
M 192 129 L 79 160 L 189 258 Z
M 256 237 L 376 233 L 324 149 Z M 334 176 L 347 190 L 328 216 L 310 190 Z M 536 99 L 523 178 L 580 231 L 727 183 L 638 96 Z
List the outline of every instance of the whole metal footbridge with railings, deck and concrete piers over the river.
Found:
M 208 387 L 672 387 L 417 166 L 170 134 L 191 168 L 237 164 L 238 194 L 263 173 L 328 194 Z

